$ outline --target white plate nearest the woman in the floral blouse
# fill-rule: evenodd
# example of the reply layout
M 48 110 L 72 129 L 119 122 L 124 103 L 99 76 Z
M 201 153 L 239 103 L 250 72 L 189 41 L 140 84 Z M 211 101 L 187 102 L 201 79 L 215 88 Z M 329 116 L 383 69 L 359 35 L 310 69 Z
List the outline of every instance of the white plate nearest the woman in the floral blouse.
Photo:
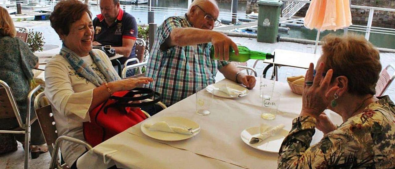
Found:
M 267 139 L 264 139 L 260 143 L 255 143 L 255 144 L 250 144 L 250 139 L 252 137 L 255 137 L 256 135 L 260 134 L 260 127 L 250 127 L 246 128 L 241 132 L 241 139 L 244 141 L 249 146 L 252 146 L 253 148 L 256 148 L 261 151 L 265 152 L 273 152 L 273 153 L 278 153 L 278 150 L 280 150 L 280 146 L 282 144 L 282 141 L 284 138 L 288 135 L 287 130 L 280 130 L 276 135 L 273 135 Z

